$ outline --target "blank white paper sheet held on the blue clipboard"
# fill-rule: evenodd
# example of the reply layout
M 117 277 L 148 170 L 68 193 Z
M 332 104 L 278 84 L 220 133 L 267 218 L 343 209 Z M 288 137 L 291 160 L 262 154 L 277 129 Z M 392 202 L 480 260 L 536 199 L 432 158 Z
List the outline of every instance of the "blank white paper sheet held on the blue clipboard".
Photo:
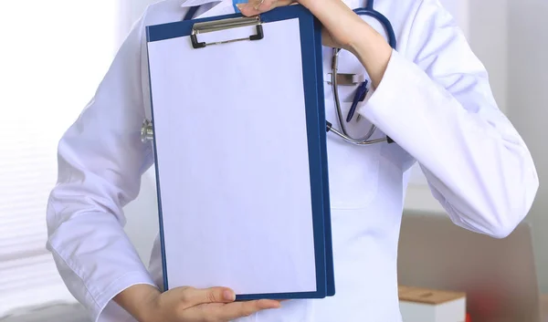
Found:
M 299 20 L 264 32 L 149 44 L 170 288 L 316 291 Z

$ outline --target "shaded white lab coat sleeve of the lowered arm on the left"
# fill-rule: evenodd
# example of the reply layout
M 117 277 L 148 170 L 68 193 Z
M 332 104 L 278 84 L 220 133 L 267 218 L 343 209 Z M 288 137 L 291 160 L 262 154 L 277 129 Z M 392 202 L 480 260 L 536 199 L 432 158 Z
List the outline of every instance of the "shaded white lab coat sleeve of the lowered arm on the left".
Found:
M 138 23 L 79 119 L 58 144 L 58 184 L 47 206 L 47 248 L 68 290 L 94 321 L 122 320 L 113 296 L 151 275 L 124 233 L 152 151 L 140 140 L 142 30 Z M 126 316 L 127 317 L 127 316 Z

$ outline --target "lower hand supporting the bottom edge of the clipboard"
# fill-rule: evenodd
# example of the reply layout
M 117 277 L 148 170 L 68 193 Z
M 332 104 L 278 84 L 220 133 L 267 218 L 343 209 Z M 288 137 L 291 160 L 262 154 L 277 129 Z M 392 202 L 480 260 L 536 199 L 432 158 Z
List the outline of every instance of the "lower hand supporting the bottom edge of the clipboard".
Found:
M 152 286 L 133 286 L 115 301 L 140 322 L 228 322 L 280 306 L 275 300 L 235 302 L 234 292 L 225 287 L 180 287 L 160 293 Z

